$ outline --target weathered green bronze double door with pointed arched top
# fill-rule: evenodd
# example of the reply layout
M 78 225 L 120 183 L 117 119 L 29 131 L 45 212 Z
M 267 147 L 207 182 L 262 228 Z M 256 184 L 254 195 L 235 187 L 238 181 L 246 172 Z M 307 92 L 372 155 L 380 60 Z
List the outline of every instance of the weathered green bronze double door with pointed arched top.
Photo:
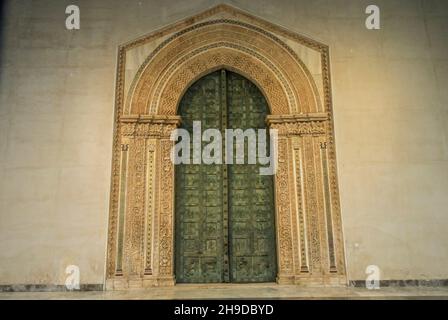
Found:
M 223 137 L 226 128 L 265 128 L 267 113 L 258 88 L 225 70 L 194 83 L 179 106 L 190 133 L 201 121 L 202 131 L 217 128 Z M 247 141 L 245 149 L 245 164 L 176 166 L 177 282 L 275 280 L 273 177 L 247 164 Z

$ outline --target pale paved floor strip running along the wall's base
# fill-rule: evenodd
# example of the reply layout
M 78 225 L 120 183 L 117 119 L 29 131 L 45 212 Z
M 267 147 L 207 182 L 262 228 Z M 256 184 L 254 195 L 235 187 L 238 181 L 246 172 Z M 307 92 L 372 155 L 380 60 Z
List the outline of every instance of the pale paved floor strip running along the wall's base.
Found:
M 307 288 L 259 285 L 176 285 L 131 291 L 2 292 L 0 299 L 447 299 L 448 287 Z

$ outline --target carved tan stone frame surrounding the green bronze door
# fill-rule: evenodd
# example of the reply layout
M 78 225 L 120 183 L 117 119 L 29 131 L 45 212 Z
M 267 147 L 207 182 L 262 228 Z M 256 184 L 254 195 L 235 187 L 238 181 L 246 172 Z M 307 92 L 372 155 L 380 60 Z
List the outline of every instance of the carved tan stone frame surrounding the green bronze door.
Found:
M 316 53 L 320 84 L 288 43 Z M 129 79 L 135 50 L 147 55 Z M 277 282 L 345 285 L 329 49 L 219 5 L 119 47 L 106 288 L 175 284 L 170 133 L 185 90 L 222 68 L 258 86 L 279 132 Z

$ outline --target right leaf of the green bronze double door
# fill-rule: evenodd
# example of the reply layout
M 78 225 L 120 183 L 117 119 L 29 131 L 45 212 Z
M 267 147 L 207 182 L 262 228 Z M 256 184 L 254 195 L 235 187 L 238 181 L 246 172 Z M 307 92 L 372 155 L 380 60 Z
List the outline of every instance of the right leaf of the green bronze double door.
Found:
M 265 129 L 268 106 L 258 88 L 236 73 L 227 75 L 228 128 Z M 230 267 L 232 282 L 267 282 L 276 276 L 272 176 L 260 165 L 229 165 Z

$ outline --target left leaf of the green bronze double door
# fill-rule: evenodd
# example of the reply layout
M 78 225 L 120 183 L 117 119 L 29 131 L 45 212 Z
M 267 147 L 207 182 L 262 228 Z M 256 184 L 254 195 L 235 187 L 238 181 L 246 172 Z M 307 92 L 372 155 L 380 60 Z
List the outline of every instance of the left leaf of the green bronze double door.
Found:
M 215 72 L 186 92 L 179 112 L 181 127 L 190 136 L 193 121 L 201 121 L 202 130 L 221 126 L 220 90 Z M 181 164 L 175 169 L 176 281 L 222 282 L 222 165 Z

